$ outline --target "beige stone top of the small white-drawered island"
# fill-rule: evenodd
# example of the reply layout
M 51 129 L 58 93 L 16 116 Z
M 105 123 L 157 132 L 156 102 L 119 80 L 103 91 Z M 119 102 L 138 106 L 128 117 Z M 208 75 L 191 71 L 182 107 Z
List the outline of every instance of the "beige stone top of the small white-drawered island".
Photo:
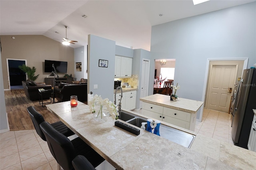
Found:
M 154 94 L 146 97 L 140 98 L 140 101 L 144 101 L 147 103 L 160 105 L 163 107 L 168 107 L 171 109 L 176 109 L 188 113 L 196 113 L 198 109 L 203 105 L 202 101 L 195 101 L 190 99 L 183 99 L 178 97 L 177 101 L 171 101 L 170 96 Z

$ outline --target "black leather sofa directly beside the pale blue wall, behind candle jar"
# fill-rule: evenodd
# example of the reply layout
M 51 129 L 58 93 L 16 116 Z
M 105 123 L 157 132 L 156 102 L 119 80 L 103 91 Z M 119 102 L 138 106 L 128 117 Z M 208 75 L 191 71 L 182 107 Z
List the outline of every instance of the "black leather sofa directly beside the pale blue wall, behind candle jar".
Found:
M 87 102 L 87 83 L 67 84 L 60 83 L 54 87 L 55 97 L 58 102 L 70 101 L 70 96 L 77 96 L 78 101 Z

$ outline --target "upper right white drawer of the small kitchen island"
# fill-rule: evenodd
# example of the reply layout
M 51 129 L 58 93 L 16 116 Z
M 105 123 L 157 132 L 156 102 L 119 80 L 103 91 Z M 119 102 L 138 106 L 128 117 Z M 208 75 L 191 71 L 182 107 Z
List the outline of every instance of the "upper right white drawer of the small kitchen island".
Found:
M 164 107 L 163 115 L 190 122 L 191 113 Z

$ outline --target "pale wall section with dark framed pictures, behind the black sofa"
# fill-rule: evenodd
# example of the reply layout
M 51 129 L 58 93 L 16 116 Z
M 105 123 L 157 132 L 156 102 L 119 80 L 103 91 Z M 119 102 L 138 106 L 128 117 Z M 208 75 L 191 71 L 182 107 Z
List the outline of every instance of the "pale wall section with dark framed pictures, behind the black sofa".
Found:
M 76 63 L 82 62 L 82 71 L 76 71 Z M 74 76 L 77 81 L 81 78 L 87 79 L 87 46 L 74 49 Z

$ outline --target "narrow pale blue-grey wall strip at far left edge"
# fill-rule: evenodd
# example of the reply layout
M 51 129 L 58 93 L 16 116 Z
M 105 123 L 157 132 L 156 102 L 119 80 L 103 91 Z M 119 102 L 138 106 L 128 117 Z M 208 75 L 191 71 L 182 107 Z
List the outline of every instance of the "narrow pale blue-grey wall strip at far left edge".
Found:
M 0 42 L 1 45 L 1 42 Z M 0 52 L 0 133 L 9 131 L 4 99 L 4 83 L 2 71 L 2 56 Z

